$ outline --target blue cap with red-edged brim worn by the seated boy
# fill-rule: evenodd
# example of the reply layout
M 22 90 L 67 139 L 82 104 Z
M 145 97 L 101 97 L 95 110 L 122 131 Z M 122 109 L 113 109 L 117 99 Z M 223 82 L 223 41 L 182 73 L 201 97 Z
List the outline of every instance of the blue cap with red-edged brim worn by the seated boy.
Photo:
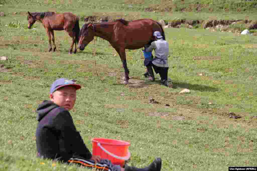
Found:
M 79 84 L 75 84 L 74 81 L 69 80 L 67 78 L 59 78 L 56 81 L 53 82 L 51 89 L 50 89 L 50 94 L 53 94 L 57 89 L 64 87 L 64 86 L 74 86 L 77 90 L 81 88 Z

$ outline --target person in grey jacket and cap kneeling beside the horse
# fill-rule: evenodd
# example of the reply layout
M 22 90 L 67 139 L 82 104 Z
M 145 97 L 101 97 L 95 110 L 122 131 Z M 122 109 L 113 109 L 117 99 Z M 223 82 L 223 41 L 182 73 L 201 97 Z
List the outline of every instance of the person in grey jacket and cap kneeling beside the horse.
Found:
M 163 39 L 163 36 L 159 31 L 155 31 L 153 33 L 154 41 L 151 43 L 150 46 L 145 46 L 146 52 L 152 52 L 154 50 L 155 58 L 148 65 L 146 68 L 148 70 L 150 81 L 154 81 L 154 73 L 153 69 L 156 74 L 160 74 L 161 82 L 165 86 L 172 86 L 172 82 L 168 79 L 168 70 L 169 70 L 169 63 L 168 63 L 168 55 L 169 55 L 169 44 L 166 40 Z M 153 69 L 152 69 L 153 67 Z

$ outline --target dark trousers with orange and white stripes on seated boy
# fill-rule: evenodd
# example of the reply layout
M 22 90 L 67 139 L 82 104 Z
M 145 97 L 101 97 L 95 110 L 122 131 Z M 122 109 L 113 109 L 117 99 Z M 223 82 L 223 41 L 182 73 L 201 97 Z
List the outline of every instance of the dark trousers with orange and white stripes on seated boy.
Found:
M 110 160 L 101 159 L 99 163 L 95 163 L 94 160 L 86 160 L 82 157 L 72 157 L 68 160 L 68 163 L 76 163 L 87 168 L 96 168 L 106 171 L 121 171 L 120 165 L 113 165 Z

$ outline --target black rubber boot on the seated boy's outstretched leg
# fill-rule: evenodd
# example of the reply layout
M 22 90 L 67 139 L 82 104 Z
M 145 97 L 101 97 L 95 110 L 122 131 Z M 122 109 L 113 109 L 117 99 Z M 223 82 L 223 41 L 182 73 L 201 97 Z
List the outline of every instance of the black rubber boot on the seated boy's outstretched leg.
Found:
M 156 158 L 153 163 L 145 168 L 136 168 L 131 166 L 125 166 L 125 171 L 160 171 L 161 170 L 161 158 Z

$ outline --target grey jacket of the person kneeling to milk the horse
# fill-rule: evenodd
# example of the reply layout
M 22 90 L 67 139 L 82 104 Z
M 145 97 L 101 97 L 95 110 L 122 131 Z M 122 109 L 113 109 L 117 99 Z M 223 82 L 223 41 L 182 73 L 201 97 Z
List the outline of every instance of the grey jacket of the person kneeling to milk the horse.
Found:
M 159 67 L 169 67 L 168 55 L 169 55 L 169 44 L 167 41 L 158 39 L 153 41 L 151 45 L 146 48 L 146 52 L 151 52 L 154 49 L 155 58 L 152 63 Z

